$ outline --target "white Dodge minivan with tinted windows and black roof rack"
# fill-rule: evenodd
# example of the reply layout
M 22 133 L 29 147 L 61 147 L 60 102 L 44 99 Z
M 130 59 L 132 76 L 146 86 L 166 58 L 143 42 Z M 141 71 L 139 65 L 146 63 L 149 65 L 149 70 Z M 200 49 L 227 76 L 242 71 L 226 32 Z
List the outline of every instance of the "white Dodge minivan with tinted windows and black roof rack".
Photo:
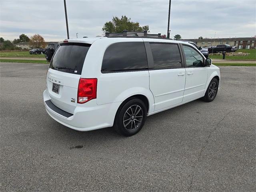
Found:
M 220 69 L 189 42 L 110 36 L 59 43 L 44 104 L 75 130 L 114 126 L 131 136 L 149 115 L 198 98 L 211 102 L 220 85 Z

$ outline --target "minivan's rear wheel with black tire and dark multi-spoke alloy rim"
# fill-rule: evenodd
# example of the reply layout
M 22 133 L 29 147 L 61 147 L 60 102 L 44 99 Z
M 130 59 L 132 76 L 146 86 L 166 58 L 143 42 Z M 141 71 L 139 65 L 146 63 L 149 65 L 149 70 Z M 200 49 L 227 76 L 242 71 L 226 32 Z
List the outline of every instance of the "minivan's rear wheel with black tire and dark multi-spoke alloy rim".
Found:
M 138 98 L 132 98 L 122 104 L 116 112 L 114 128 L 124 136 L 132 136 L 142 129 L 146 116 L 147 108 L 144 102 Z

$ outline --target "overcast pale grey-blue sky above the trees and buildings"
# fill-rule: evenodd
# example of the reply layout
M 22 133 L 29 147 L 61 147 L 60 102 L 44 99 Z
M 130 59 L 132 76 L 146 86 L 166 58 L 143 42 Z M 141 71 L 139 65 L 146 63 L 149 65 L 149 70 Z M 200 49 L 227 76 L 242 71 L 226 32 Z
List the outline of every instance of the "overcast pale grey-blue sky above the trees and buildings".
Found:
M 126 15 L 150 33 L 167 33 L 169 0 L 66 0 L 70 38 L 102 35 L 113 16 Z M 255 0 L 172 0 L 171 38 L 256 35 Z M 0 0 L 0 36 L 42 35 L 46 41 L 66 38 L 63 0 Z

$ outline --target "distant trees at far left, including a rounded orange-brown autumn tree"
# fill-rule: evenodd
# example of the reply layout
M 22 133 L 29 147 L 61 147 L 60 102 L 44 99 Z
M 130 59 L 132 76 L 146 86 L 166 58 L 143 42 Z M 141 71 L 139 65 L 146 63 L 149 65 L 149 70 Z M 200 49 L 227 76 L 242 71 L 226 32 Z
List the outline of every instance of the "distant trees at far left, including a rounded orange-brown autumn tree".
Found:
M 0 50 L 21 50 L 20 47 L 15 46 L 15 44 L 20 42 L 29 42 L 32 48 L 44 48 L 46 46 L 44 38 L 39 34 L 34 34 L 30 38 L 25 34 L 21 34 L 18 39 L 13 41 L 4 40 L 4 38 L 0 37 Z

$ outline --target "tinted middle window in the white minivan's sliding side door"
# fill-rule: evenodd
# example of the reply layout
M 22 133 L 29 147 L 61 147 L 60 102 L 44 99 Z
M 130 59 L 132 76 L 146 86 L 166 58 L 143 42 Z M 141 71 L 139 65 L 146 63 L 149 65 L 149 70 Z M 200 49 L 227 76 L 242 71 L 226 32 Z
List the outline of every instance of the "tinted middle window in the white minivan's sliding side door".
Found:
M 177 44 L 150 43 L 154 59 L 154 68 L 180 68 L 181 57 Z

